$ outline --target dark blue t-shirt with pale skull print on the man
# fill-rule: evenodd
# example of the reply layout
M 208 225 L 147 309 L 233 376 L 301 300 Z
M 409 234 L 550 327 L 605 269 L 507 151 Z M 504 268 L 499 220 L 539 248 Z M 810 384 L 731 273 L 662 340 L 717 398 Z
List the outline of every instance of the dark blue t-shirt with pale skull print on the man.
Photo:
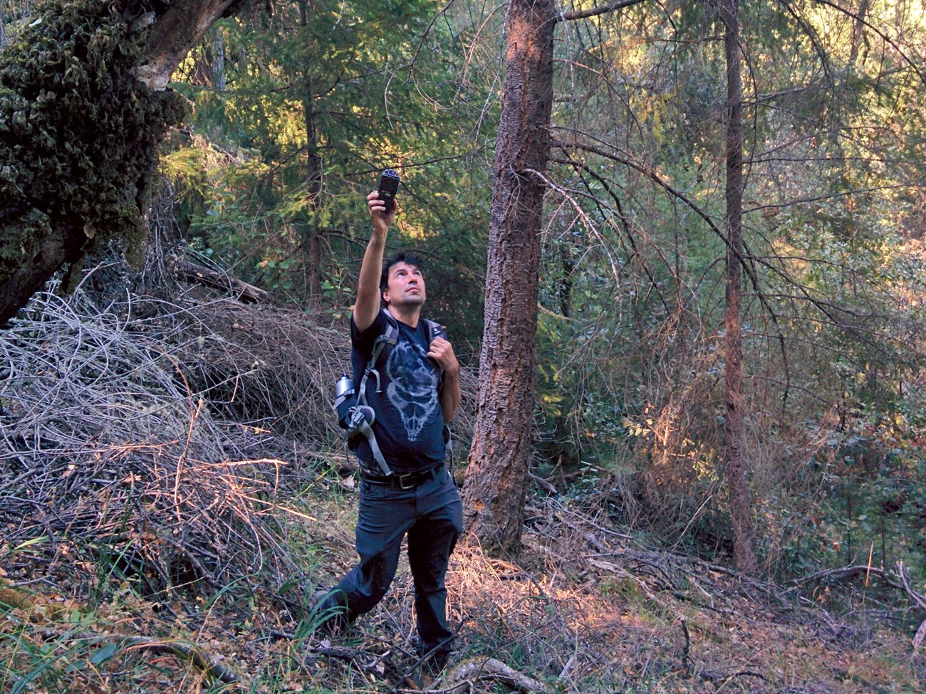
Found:
M 387 321 L 381 309 L 373 325 L 358 334 L 351 316 L 351 366 L 357 388 L 373 343 L 385 332 Z M 377 360 L 380 392 L 375 374 L 367 378 L 366 390 L 367 403 L 376 413 L 373 433 L 382 456 L 394 472 L 407 473 L 444 462 L 444 411 L 438 397 L 441 370 L 428 357 L 431 339 L 425 322 L 420 320 L 418 328 L 400 320 L 396 323 L 398 340 L 383 348 Z M 355 437 L 352 448 L 364 467 L 379 469 L 364 437 Z

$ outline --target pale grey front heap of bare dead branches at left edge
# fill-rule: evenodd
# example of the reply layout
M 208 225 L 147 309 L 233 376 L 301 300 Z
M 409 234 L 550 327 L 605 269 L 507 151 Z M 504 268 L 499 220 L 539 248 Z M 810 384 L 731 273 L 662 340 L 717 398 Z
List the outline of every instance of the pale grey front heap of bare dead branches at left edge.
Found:
M 294 576 L 272 513 L 286 462 L 244 454 L 254 434 L 184 374 L 190 342 L 131 329 L 132 310 L 44 294 L 0 334 L 0 549 L 15 562 L 47 543 L 88 571 L 106 559 L 152 592 L 249 576 L 279 589 Z

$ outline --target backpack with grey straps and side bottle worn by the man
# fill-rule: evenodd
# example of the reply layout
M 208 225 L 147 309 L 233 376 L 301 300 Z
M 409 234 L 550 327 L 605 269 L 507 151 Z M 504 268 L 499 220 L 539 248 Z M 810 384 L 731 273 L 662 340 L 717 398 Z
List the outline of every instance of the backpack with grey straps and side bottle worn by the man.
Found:
M 382 334 L 373 341 L 373 350 L 370 353 L 367 365 L 363 369 L 359 387 L 355 390 L 354 381 L 347 374 L 343 374 L 335 384 L 332 407 L 338 417 L 338 425 L 344 429 L 346 439 L 350 441 L 357 436 L 366 438 L 369 441 L 369 448 L 373 452 L 376 464 L 380 466 L 382 474 L 388 477 L 393 474 L 393 471 L 386 463 L 380 446 L 376 442 L 376 436 L 373 434 L 373 422 L 376 421 L 376 413 L 367 403 L 367 380 L 370 375 L 375 376 L 376 391 L 381 391 L 379 369 L 389 357 L 386 348 L 394 347 L 399 339 L 398 321 L 389 313 L 388 309 L 384 309 L 384 312 L 386 314 L 386 327 Z M 447 334 L 440 323 L 428 318 L 421 318 L 420 320 L 424 322 L 425 328 L 428 330 L 429 343 L 438 337 L 446 339 Z M 444 426 L 444 444 L 448 448 L 450 445 L 449 434 L 450 429 Z

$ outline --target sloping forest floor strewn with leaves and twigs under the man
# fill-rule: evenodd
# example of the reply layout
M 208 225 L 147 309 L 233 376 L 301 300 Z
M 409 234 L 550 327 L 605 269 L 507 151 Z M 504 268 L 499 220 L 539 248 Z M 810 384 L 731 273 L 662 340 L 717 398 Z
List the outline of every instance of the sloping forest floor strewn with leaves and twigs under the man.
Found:
M 285 521 L 319 584 L 354 561 L 351 482 L 332 469 Z M 528 511 L 517 563 L 457 549 L 447 581 L 457 651 L 424 683 L 407 564 L 374 612 L 325 637 L 311 631 L 315 615 L 259 592 L 243 602 L 229 587 L 205 601 L 188 586 L 144 599 L 98 565 L 4 547 L 0 689 L 874 694 L 926 684 L 926 658 L 860 593 L 837 613 L 826 586 L 814 601 L 638 549 L 588 507 L 533 499 Z

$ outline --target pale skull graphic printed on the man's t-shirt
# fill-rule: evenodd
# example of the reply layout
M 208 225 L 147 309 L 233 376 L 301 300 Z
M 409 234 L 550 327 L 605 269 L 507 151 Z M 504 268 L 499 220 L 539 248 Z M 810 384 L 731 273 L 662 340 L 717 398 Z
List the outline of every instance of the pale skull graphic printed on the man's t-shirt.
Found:
M 389 354 L 386 377 L 386 395 L 402 416 L 408 440 L 418 440 L 421 429 L 440 404 L 436 370 L 428 367 L 428 355 L 418 345 L 400 340 Z

